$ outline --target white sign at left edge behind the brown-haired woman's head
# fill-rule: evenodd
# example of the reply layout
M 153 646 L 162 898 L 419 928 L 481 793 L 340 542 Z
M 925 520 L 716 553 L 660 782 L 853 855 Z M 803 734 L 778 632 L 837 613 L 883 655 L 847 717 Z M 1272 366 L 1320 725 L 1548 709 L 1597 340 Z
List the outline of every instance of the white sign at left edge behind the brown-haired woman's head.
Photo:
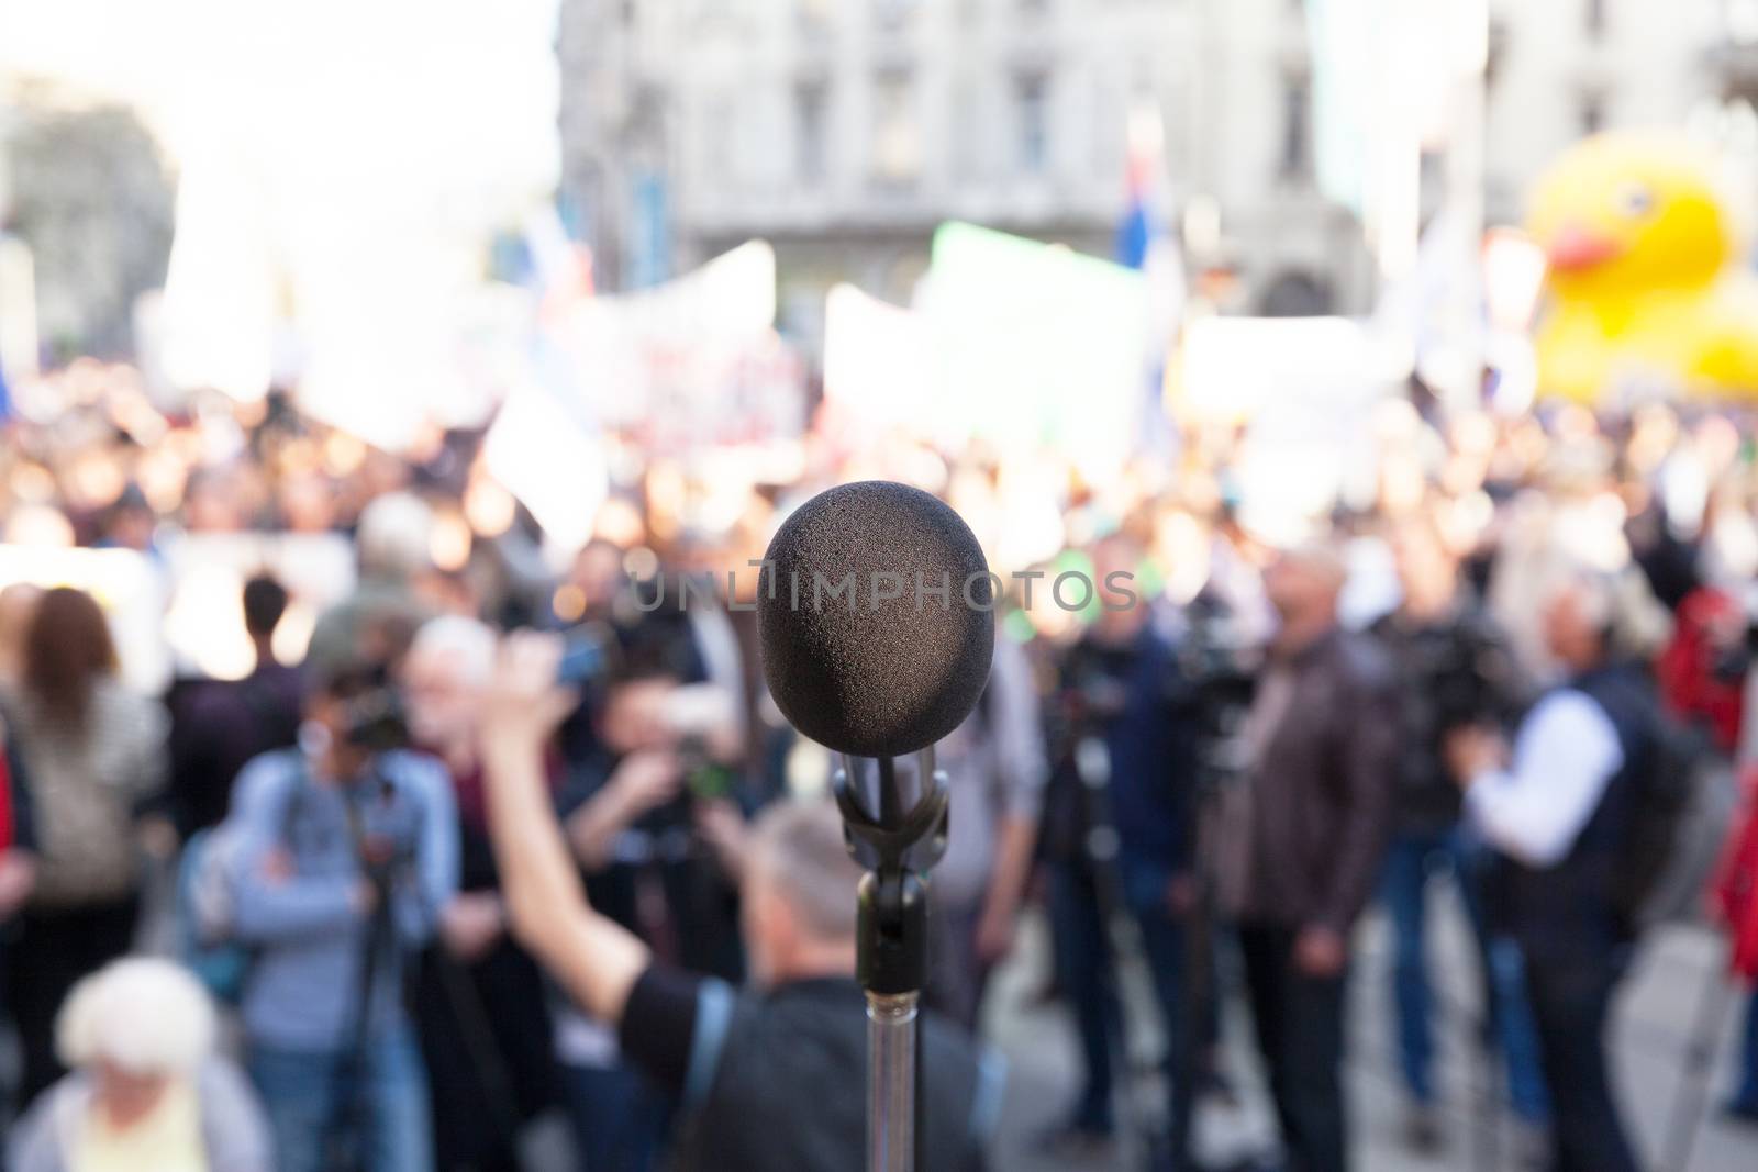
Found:
M 155 696 L 171 682 L 171 655 L 160 633 L 165 587 L 146 555 L 134 550 L 0 545 L 0 587 L 14 582 L 84 590 L 109 619 L 123 680 Z

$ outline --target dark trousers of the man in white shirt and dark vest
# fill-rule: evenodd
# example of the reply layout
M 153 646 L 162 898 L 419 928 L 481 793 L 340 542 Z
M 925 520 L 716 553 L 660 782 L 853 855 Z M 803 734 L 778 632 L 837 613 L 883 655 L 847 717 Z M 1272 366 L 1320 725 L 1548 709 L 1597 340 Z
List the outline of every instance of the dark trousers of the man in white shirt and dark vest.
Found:
M 1551 1089 L 1556 1172 L 1635 1172 L 1612 1102 L 1605 1026 L 1623 975 L 1614 958 L 1528 956 L 1526 986 Z

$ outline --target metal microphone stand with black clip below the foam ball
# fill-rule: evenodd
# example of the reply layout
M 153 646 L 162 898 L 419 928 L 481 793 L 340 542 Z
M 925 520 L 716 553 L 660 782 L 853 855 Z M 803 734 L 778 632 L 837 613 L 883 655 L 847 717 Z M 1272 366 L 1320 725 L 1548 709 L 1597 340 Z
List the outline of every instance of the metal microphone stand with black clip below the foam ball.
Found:
M 946 852 L 946 782 L 933 749 L 916 754 L 919 794 L 905 810 L 891 757 L 877 757 L 877 812 L 865 801 L 854 757 L 844 756 L 835 794 L 860 886 L 854 973 L 867 993 L 867 1172 L 914 1172 L 921 1072 L 921 989 L 928 977 L 928 870 Z

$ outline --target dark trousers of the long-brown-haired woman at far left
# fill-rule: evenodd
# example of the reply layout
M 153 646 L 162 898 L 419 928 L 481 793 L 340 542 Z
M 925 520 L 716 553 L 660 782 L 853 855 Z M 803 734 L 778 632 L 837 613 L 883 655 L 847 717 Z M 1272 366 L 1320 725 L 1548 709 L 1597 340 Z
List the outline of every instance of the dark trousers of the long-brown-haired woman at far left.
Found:
M 25 1068 L 18 1107 L 65 1074 L 54 1054 L 54 1016 L 81 977 L 128 952 L 141 901 L 26 910 L 18 938 L 7 949 L 7 996 Z

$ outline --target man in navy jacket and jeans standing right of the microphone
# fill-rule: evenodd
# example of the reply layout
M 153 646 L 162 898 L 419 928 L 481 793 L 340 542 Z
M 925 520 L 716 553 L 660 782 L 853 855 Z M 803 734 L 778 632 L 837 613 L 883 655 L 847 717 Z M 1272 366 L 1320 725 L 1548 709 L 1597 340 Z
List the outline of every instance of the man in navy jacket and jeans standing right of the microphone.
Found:
M 1178 1037 L 1183 1012 L 1183 924 L 1190 891 L 1190 798 L 1195 785 L 1195 724 L 1183 705 L 1185 687 L 1171 638 L 1153 622 L 1153 608 L 1134 583 L 1141 546 L 1116 532 L 1092 552 L 1092 582 L 1102 599 L 1099 617 L 1058 669 L 1058 729 L 1050 836 L 1050 901 L 1057 970 L 1074 1007 L 1085 1063 L 1072 1118 L 1058 1147 L 1092 1147 L 1113 1130 L 1111 1074 L 1123 1045 L 1106 907 L 1122 898 L 1141 933 L 1143 959 L 1153 975 L 1157 1012 L 1167 1033 L 1167 1061 L 1187 1044 Z M 1113 589 L 1116 587 L 1116 589 Z M 1108 757 L 1108 808 L 1092 805 L 1083 742 L 1102 743 Z M 1109 861 L 1086 850 L 1095 821 L 1118 836 L 1115 875 Z M 1208 1038 L 1190 1038 L 1204 1045 Z M 1174 1093 L 1178 1088 L 1171 1088 Z

